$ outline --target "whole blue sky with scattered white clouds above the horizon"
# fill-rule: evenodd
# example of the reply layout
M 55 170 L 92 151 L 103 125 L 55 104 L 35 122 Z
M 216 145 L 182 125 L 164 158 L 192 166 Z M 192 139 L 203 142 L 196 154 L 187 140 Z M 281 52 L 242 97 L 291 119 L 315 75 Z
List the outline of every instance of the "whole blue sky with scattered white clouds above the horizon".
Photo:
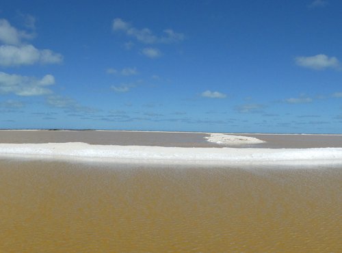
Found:
M 1 129 L 342 133 L 342 1 L 0 5 Z

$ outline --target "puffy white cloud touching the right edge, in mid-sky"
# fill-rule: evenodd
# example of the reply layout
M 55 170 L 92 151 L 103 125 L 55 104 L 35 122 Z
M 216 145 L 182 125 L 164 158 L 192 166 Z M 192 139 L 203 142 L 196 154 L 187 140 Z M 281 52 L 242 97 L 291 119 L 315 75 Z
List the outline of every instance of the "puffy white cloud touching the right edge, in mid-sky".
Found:
M 299 56 L 295 57 L 295 63 L 305 68 L 314 70 L 323 70 L 324 68 L 340 68 L 337 57 L 328 57 L 327 55 L 319 54 L 314 56 Z

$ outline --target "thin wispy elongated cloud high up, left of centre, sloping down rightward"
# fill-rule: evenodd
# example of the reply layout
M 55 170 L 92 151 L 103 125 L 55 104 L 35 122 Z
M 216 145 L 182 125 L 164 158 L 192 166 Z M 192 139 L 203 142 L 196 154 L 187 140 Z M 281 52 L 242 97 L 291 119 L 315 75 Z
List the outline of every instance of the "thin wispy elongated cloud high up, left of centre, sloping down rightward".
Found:
M 145 44 L 164 43 L 170 44 L 184 40 L 184 35 L 174 32 L 172 29 L 164 29 L 162 36 L 156 36 L 148 28 L 137 29 L 131 24 L 122 21 L 121 18 L 114 18 L 113 31 L 123 31 L 127 36 Z

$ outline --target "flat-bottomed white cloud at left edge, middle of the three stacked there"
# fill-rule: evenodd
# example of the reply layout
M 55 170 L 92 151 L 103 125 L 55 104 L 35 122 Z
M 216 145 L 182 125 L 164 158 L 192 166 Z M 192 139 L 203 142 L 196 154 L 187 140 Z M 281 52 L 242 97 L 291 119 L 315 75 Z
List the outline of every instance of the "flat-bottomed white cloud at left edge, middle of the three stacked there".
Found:
M 53 53 L 49 49 L 38 50 L 32 45 L 0 46 L 0 65 L 19 66 L 40 64 L 57 64 L 62 62 L 63 57 L 59 53 Z

